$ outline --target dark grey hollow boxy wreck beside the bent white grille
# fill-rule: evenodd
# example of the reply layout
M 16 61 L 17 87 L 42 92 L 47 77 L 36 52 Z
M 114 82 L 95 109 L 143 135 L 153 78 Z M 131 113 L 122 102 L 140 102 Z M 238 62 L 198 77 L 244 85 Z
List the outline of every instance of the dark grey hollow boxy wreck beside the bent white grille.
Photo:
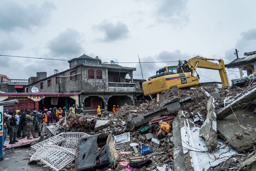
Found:
M 118 154 L 111 133 L 79 139 L 76 151 L 77 171 L 108 170 L 118 163 Z

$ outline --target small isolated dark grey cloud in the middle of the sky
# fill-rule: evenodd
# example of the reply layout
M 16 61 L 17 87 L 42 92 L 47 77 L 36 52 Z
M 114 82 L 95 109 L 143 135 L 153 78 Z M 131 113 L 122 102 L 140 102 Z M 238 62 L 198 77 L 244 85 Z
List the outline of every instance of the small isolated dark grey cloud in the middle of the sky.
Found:
M 114 42 L 121 39 L 126 39 L 129 34 L 127 25 L 122 22 L 116 24 L 110 23 L 107 20 L 103 20 L 100 24 L 94 26 L 99 31 L 104 32 L 105 37 L 100 39 L 103 42 Z

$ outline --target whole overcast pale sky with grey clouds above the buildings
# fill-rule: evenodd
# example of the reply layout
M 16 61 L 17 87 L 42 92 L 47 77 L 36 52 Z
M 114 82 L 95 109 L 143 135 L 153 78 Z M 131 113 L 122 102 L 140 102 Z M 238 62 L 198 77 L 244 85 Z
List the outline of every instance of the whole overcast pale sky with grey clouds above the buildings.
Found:
M 0 54 L 69 60 L 85 53 L 103 62 L 200 55 L 229 63 L 236 48 L 239 57 L 256 50 L 255 6 L 254 0 L 1 0 Z M 136 67 L 134 78 L 141 78 L 138 64 L 121 65 Z M 165 65 L 177 63 L 142 64 L 144 77 Z M 0 56 L 0 73 L 12 79 L 68 67 L 66 61 Z M 230 80 L 239 77 L 230 71 Z M 207 77 L 200 82 L 220 81 L 217 71 L 198 72 Z

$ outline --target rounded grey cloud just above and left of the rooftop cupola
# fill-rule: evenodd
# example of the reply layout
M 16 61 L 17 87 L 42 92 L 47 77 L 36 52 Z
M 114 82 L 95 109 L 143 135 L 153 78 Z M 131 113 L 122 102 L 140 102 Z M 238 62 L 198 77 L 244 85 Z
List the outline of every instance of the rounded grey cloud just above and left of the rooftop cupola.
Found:
M 83 52 L 80 34 L 74 29 L 66 29 L 49 41 L 48 48 L 55 56 L 75 56 Z

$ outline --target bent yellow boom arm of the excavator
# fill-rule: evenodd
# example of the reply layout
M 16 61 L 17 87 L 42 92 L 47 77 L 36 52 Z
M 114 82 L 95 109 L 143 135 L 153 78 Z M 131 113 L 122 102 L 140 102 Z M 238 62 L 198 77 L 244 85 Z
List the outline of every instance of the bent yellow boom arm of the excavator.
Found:
M 191 67 L 191 69 L 193 69 L 193 73 L 191 76 L 194 75 L 196 68 L 218 70 L 220 74 L 222 86 L 223 87 L 229 86 L 224 61 L 222 59 L 217 60 L 219 61 L 219 64 L 211 61 L 215 61 L 215 59 L 209 59 L 209 58 L 199 57 L 199 56 L 189 59 L 187 61 L 188 65 Z

